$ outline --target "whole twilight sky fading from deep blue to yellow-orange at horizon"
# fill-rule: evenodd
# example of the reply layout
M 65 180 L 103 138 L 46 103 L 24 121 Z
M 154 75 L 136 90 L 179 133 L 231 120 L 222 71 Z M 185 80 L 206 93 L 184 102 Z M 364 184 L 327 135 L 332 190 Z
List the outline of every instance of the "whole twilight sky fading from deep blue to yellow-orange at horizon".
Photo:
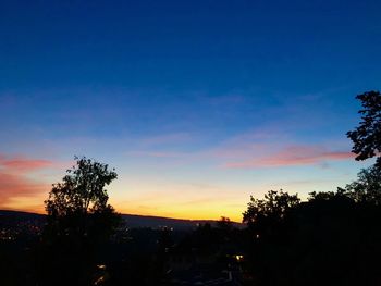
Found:
M 380 1 L 0 0 L 0 209 L 44 212 L 74 156 L 119 212 L 242 220 L 356 179 Z

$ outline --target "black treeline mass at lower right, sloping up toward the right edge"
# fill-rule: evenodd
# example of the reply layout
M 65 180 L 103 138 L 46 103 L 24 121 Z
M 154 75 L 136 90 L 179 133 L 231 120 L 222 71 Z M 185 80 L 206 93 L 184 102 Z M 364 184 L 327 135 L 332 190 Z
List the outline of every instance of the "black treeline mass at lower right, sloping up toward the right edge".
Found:
M 381 285 L 381 172 L 330 192 L 269 191 L 244 221 L 251 285 Z

